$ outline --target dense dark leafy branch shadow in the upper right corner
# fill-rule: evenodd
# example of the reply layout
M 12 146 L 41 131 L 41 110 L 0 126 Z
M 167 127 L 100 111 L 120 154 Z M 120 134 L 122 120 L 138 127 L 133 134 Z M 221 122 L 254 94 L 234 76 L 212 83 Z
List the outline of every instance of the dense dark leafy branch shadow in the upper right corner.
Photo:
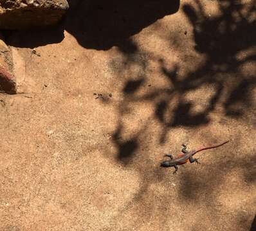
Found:
M 177 75 L 179 66 L 167 69 L 163 60 L 160 60 L 162 73 L 178 95 L 178 105 L 172 111 L 171 118 L 163 119 L 170 110 L 169 105 L 174 103 L 173 100 L 167 98 L 160 104 L 156 103 L 156 118 L 163 124 L 161 143 L 165 142 L 170 128 L 195 127 L 210 123 L 208 116 L 220 103 L 224 92 L 228 92 L 222 105 L 227 117 L 243 116 L 254 103 L 252 93 L 256 87 L 255 73 L 245 74 L 241 69 L 244 64 L 256 60 L 255 54 L 246 54 L 246 51 L 256 44 L 256 31 L 253 30 L 256 21 L 248 19 L 253 15 L 256 1 L 246 9 L 245 16 L 243 11 L 246 6 L 242 3 L 221 1 L 220 13 L 211 17 L 208 17 L 200 1 L 195 3 L 194 7 L 185 4 L 183 12 L 194 27 L 195 49 L 205 55 L 205 61 L 196 70 L 180 78 Z M 233 80 L 230 78 L 231 74 Z M 215 93 L 208 100 L 205 110 L 192 114 L 194 102 L 186 101 L 184 96 L 187 92 L 203 86 L 214 87 Z

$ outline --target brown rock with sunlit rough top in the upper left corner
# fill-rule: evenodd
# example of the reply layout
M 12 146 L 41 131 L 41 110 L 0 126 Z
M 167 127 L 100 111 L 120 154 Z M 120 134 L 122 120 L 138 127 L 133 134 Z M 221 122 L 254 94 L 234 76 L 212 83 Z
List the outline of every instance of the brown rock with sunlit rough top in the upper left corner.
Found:
M 49 26 L 68 10 L 66 0 L 0 0 L 0 29 Z

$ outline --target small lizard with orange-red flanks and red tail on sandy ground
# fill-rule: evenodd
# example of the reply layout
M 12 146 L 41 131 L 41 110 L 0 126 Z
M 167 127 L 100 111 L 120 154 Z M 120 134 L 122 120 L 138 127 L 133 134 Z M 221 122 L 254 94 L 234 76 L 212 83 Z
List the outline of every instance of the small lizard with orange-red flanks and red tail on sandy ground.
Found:
M 193 158 L 193 156 L 198 153 L 199 151 L 203 151 L 203 150 L 208 150 L 211 148 L 218 148 L 219 146 L 223 146 L 223 144 L 226 144 L 229 141 L 225 141 L 221 144 L 217 144 L 215 146 L 209 146 L 206 148 L 200 148 L 199 150 L 192 150 L 192 151 L 188 151 L 187 150 L 187 145 L 186 144 L 182 144 L 183 148 L 182 148 L 182 153 L 180 153 L 178 155 L 178 157 L 174 158 L 172 155 L 170 154 L 165 154 L 164 157 L 169 157 L 170 160 L 164 160 L 161 162 L 161 167 L 175 167 L 175 171 L 173 174 L 176 174 L 178 171 L 178 165 L 182 165 L 182 164 L 186 164 L 189 160 L 190 163 L 194 163 L 196 162 L 197 164 L 200 164 L 198 159 L 199 158 Z

